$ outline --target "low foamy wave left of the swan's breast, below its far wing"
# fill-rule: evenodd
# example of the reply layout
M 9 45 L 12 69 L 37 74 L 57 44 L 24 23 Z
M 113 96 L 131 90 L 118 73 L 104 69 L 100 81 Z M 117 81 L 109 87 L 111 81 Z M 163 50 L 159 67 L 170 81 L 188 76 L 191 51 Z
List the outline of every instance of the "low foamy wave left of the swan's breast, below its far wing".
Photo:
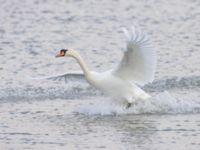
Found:
M 88 86 L 56 87 L 8 87 L 0 90 L 0 102 L 23 100 L 78 99 L 84 96 L 100 94 Z

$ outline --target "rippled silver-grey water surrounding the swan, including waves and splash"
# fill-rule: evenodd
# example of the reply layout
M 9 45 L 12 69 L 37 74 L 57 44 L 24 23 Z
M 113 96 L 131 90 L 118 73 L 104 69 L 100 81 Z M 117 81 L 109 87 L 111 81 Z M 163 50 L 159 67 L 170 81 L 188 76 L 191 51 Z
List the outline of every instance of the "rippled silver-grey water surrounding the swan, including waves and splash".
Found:
M 0 149 L 200 148 L 199 1 L 0 2 Z M 61 48 L 115 67 L 131 24 L 158 53 L 148 101 L 127 110 L 85 82 L 32 79 L 80 70 L 54 57 Z

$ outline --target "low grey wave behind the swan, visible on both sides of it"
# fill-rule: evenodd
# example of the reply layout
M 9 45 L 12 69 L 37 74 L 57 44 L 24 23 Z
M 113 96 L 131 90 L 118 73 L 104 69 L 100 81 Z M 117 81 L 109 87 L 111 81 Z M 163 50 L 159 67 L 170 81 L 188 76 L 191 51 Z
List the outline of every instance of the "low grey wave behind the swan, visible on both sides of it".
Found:
M 15 86 L 17 85 L 17 86 Z M 45 84 L 35 84 L 33 81 L 23 85 L 2 85 L 0 101 L 45 100 L 45 99 L 78 99 L 82 96 L 102 95 L 99 91 L 84 83 L 60 84 L 48 81 Z M 200 87 L 200 76 L 172 77 L 147 84 L 143 89 L 147 92 L 160 93 L 169 90 L 194 89 Z

